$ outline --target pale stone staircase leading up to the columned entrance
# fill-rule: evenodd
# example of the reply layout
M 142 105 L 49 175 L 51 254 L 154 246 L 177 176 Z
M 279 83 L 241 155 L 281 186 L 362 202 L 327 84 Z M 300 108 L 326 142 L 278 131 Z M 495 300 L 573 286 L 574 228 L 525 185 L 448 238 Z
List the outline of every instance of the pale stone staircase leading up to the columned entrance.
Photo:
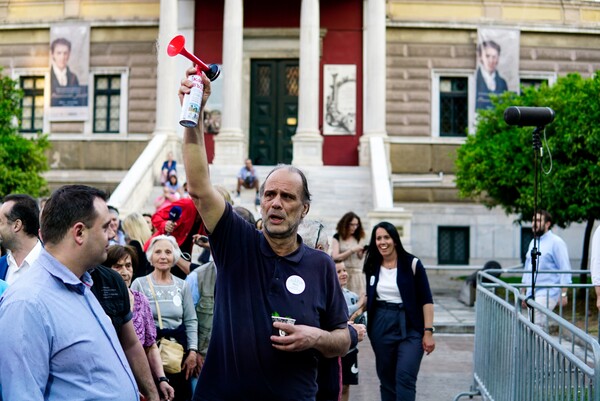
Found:
M 255 166 L 261 184 L 273 167 Z M 254 190 L 242 189 L 241 196 L 235 197 L 236 176 L 240 168 L 241 166 L 237 165 L 211 165 L 211 180 L 213 184 L 227 188 L 234 204 L 251 210 L 258 218 L 260 213 L 254 205 Z M 302 167 L 302 171 L 306 174 L 312 195 L 308 218 L 321 220 L 329 235 L 335 233 L 338 220 L 348 211 L 361 216 L 363 224 L 366 224 L 367 214 L 373 209 L 371 173 L 368 167 L 311 166 Z M 183 166 L 178 165 L 178 177 L 181 183 L 185 182 Z M 160 194 L 162 187 L 155 186 L 143 212 L 154 212 L 154 199 Z

